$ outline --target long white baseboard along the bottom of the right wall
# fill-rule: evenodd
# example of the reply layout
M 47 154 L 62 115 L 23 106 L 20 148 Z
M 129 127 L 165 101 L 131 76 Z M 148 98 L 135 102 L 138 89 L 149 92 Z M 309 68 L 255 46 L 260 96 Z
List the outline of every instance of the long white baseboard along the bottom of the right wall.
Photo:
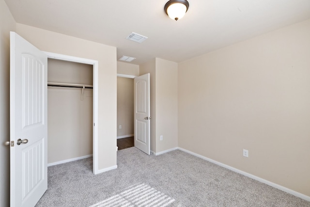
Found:
M 306 200 L 306 201 L 310 201 L 310 196 L 308 196 L 308 195 L 304 195 L 304 194 L 302 194 L 302 193 L 300 193 L 300 192 L 293 191 L 293 190 L 288 189 L 288 188 L 286 188 L 286 187 L 280 186 L 280 185 L 278 185 L 278 184 L 276 184 L 276 183 L 273 183 L 273 182 L 270 182 L 270 181 L 268 181 L 268 180 L 265 180 L 265 179 L 263 179 L 263 178 L 261 178 L 261 177 L 258 177 L 258 176 L 255 176 L 255 175 L 246 173 L 246 172 L 244 172 L 244 171 L 242 171 L 242 170 L 238 170 L 238 169 L 236 169 L 236 168 L 234 168 L 234 167 L 231 167 L 231 166 L 229 166 L 229 165 L 223 164 L 223 163 L 218 162 L 218 161 L 216 161 L 216 160 L 214 160 L 214 159 L 206 158 L 206 157 L 204 157 L 204 156 L 202 156 L 202 155 L 199 155 L 199 154 L 197 154 L 197 153 L 194 153 L 194 152 L 191 152 L 191 151 L 189 151 L 189 150 L 183 149 L 183 148 L 181 148 L 181 147 L 178 147 L 178 149 L 181 150 L 181 151 L 183 151 L 183 152 L 186 152 L 186 153 L 188 153 L 188 154 L 194 155 L 194 156 L 196 156 L 196 157 L 198 157 L 198 158 L 201 158 L 201 159 L 207 160 L 207 161 L 209 161 L 209 162 L 212 162 L 212 163 L 214 163 L 214 164 L 217 164 L 217 165 L 219 165 L 219 166 L 221 166 L 221 167 L 227 168 L 227 169 L 229 169 L 229 170 L 231 170 L 231 171 L 233 171 L 233 172 L 239 173 L 239 174 L 241 174 L 241 175 L 245 175 L 245 176 L 247 176 L 247 177 L 249 177 L 249 178 L 252 178 L 252 179 L 254 179 L 254 180 L 257 180 L 257 181 L 259 181 L 259 182 L 262 182 L 262 183 L 264 183 L 264 184 L 267 184 L 267 185 L 269 185 L 269 186 L 271 186 L 271 187 L 274 187 L 274 188 L 276 188 L 276 189 L 279 189 L 279 190 L 281 190 L 281 191 L 290 193 L 290 194 L 292 194 L 292 195 L 294 195 L 294 196 L 296 196 L 296 197 L 302 198 L 302 199 L 304 199 L 304 200 Z

